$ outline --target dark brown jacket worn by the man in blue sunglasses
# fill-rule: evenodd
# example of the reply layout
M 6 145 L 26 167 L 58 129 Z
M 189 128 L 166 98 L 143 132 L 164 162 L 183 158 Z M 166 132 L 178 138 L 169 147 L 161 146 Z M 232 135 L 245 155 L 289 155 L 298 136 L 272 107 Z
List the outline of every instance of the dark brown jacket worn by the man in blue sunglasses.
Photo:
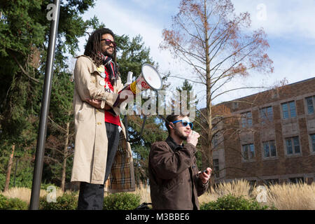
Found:
M 208 188 L 199 178 L 193 144 L 177 145 L 171 137 L 155 142 L 149 155 L 153 209 L 200 209 L 198 196 Z

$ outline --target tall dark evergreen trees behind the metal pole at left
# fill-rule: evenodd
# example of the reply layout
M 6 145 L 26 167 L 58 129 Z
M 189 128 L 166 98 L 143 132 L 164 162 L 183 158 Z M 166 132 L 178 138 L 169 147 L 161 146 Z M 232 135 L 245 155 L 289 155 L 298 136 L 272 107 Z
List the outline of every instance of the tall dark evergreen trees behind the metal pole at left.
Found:
M 31 183 L 38 120 L 41 108 L 43 77 L 48 50 L 50 21 L 46 18 L 48 0 L 0 1 L 0 143 L 1 171 L 6 170 L 10 148 L 15 144 L 15 155 L 21 157 L 17 180 Z M 66 53 L 74 55 L 78 50 L 78 38 L 85 35 L 88 28 L 99 27 L 97 18 L 83 20 L 83 13 L 94 6 L 93 0 L 62 1 L 60 6 L 57 46 L 54 63 L 54 85 L 59 85 L 60 75 L 68 67 Z M 60 85 L 61 86 L 61 85 Z M 73 89 L 66 85 L 71 94 Z M 52 101 L 55 93 L 52 91 Z M 60 102 L 69 97 L 58 97 Z M 71 99 L 72 101 L 72 99 Z M 57 111 L 60 104 L 50 105 L 50 114 Z M 54 107 L 57 107 L 54 108 Z M 64 114 L 55 113 L 54 118 Z M 48 134 L 50 130 L 48 130 Z M 49 151 L 48 151 L 49 153 Z M 46 164 L 47 165 L 47 164 Z M 30 169 L 25 169 L 29 167 Z M 4 172 L 5 173 L 5 172 Z M 11 172 L 12 174 L 12 172 Z M 28 179 L 25 180 L 25 177 Z M 43 179 L 45 181 L 45 172 Z M 3 180 L 1 172 L 0 180 Z M 50 180 L 47 177 L 47 180 Z M 1 182 L 2 183 L 2 182 Z

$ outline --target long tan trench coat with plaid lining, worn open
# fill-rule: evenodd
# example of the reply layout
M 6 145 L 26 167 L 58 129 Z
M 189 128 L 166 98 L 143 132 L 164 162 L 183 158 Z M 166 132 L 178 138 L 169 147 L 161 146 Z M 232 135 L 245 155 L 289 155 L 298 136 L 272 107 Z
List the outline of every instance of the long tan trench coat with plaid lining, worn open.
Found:
M 99 84 L 104 78 L 100 76 L 92 59 L 85 55 L 77 57 L 74 80 L 75 151 L 71 182 L 103 184 L 108 144 L 103 108 L 105 104 L 113 106 L 123 84 L 119 78 L 113 86 L 113 93 L 105 92 L 104 86 Z M 102 100 L 102 109 L 95 109 L 84 102 L 85 99 Z M 113 111 L 119 115 L 118 107 L 113 108 Z M 106 188 L 109 192 L 135 190 L 132 151 L 126 141 L 123 123 L 121 126 L 123 130 L 120 132 L 118 151 Z

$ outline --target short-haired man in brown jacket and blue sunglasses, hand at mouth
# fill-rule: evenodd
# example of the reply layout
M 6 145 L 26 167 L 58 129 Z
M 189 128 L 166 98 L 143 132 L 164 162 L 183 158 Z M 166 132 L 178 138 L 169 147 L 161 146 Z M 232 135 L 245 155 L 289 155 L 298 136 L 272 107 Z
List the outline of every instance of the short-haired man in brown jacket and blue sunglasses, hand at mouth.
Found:
M 209 186 L 211 169 L 197 169 L 195 153 L 200 134 L 187 116 L 167 116 L 169 137 L 155 142 L 149 154 L 149 179 L 153 209 L 200 209 L 198 197 Z M 187 144 L 183 144 L 187 141 Z

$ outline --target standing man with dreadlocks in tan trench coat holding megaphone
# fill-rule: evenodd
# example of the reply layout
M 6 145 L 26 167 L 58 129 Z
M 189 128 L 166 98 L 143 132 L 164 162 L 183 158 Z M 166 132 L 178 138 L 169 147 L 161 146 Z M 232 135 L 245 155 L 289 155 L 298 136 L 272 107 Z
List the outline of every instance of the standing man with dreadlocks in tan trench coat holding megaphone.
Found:
M 78 209 L 103 209 L 105 186 L 112 193 L 135 190 L 132 151 L 119 117 L 124 99 L 118 99 L 123 84 L 114 37 L 110 29 L 94 31 L 73 72 L 75 152 L 71 181 L 80 182 Z M 108 178 L 109 185 L 105 185 Z

